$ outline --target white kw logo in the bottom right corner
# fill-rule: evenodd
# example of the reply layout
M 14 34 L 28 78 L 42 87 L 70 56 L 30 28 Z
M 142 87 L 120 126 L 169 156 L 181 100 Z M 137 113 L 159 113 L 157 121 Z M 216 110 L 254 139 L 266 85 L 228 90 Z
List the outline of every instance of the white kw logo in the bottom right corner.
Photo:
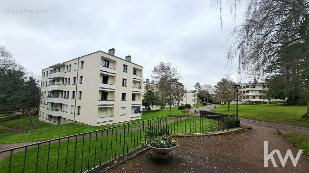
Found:
M 284 156 L 284 159 L 280 153 L 279 150 L 273 150 L 269 155 L 268 155 L 268 141 L 264 141 L 264 167 L 268 167 L 268 160 L 270 159 L 271 162 L 273 163 L 274 167 L 277 167 L 277 163 L 273 157 L 273 155 L 275 153 L 277 153 L 278 158 L 281 162 L 282 167 L 284 167 L 286 165 L 286 161 L 289 159 L 289 157 L 291 158 L 291 161 L 293 163 L 293 166 L 296 167 L 298 159 L 300 157 L 300 155 L 302 154 L 303 150 L 298 150 L 298 153 L 296 155 L 296 157 L 294 158 L 291 150 L 287 150 L 286 151 L 286 155 Z

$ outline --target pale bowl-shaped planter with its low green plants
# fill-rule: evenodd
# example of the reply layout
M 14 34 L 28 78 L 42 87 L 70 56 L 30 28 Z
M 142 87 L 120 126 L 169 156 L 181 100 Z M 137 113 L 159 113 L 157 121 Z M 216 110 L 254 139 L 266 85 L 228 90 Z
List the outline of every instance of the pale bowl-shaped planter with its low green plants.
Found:
M 177 147 L 178 143 L 169 137 L 159 136 L 148 139 L 146 145 L 155 152 L 156 158 L 164 160 L 167 158 L 167 154 Z

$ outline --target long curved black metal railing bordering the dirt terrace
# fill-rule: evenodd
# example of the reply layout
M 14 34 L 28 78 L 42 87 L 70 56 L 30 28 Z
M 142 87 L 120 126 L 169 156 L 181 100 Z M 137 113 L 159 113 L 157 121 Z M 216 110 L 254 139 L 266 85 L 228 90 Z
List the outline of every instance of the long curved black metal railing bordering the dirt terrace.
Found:
M 0 172 L 89 172 L 142 146 L 165 129 L 170 135 L 239 127 L 237 115 L 165 116 L 0 151 Z

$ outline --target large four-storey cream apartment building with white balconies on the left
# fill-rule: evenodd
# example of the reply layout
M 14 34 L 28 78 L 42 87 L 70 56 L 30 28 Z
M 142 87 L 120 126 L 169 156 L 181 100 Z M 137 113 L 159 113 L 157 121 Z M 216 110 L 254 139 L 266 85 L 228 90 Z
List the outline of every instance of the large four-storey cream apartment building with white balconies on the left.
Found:
M 42 70 L 40 120 L 100 126 L 140 119 L 143 67 L 97 51 Z

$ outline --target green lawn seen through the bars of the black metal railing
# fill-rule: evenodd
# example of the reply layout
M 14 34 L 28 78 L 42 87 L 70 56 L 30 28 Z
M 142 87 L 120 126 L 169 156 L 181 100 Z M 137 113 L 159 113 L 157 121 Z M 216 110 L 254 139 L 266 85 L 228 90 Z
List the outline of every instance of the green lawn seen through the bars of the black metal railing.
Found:
M 219 127 L 219 124 L 210 123 L 211 121 L 204 120 L 197 121 L 199 118 L 188 118 L 178 122 L 169 124 L 170 133 L 198 133 L 205 131 L 212 131 L 214 127 Z M 208 123 L 207 123 L 208 122 Z M 193 127 L 194 128 L 191 128 Z M 190 127 L 190 128 L 188 128 Z M 136 127 L 138 128 L 138 127 Z M 220 128 L 218 128 L 220 129 Z M 27 149 L 25 172 L 35 172 L 36 158 L 38 157 L 38 168 L 37 172 L 81 172 L 91 169 L 95 165 L 100 163 L 104 164 L 109 162 L 123 153 L 130 152 L 145 144 L 148 137 L 146 136 L 145 129 L 139 129 L 135 131 L 124 131 L 120 134 L 109 133 L 103 137 L 98 136 L 95 138 L 93 135 L 90 138 L 77 139 L 76 145 L 75 140 L 68 142 L 51 143 L 49 145 L 41 145 L 39 147 L 32 147 Z M 73 138 L 74 139 L 74 138 Z M 76 159 L 74 168 L 74 157 L 75 157 L 75 146 L 76 146 Z M 50 151 L 50 152 L 48 152 Z M 58 152 L 59 151 L 59 152 Z M 59 158 L 58 158 L 59 157 Z M 25 151 L 20 151 L 12 155 L 11 167 L 12 173 L 23 172 Z M 66 160 L 67 158 L 67 160 Z M 47 160 L 49 160 L 47 164 Z M 0 161 L 0 170 L 8 172 L 10 157 L 6 157 Z M 58 166 L 57 166 L 58 162 Z

